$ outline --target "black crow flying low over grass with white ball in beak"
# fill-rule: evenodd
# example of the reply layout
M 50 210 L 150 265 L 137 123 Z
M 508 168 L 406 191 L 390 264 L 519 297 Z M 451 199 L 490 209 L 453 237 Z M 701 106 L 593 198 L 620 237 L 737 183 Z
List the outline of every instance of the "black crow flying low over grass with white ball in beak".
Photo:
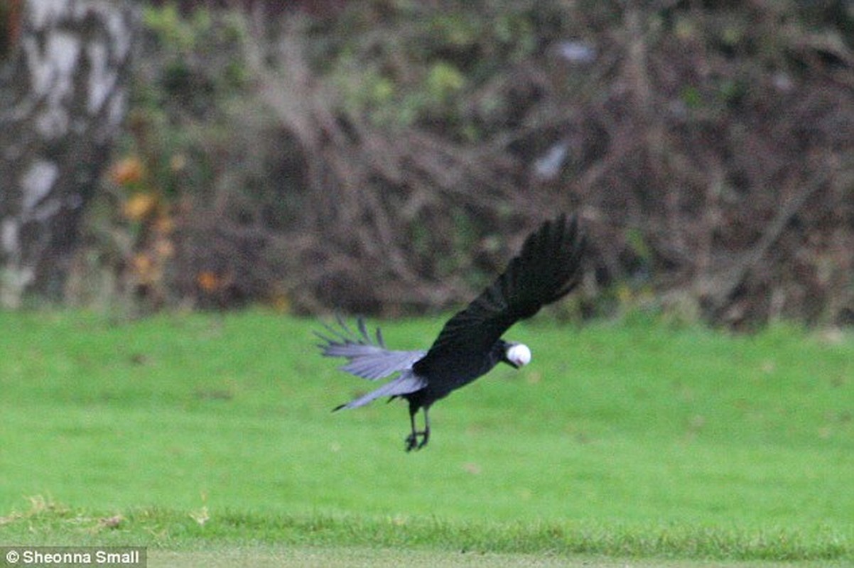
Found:
M 406 449 L 424 448 L 430 440 L 428 413 L 433 403 L 500 362 L 513 368 L 530 362 L 527 345 L 501 336 L 514 323 L 534 316 L 576 287 L 584 244 L 576 217 L 562 215 L 542 223 L 504 273 L 445 323 L 428 351 L 390 350 L 379 328 L 371 337 L 361 318 L 355 330 L 340 316 L 338 328 L 325 325 L 325 333 L 315 332 L 323 341 L 319 348 L 324 356 L 346 358 L 342 371 L 367 380 L 397 374 L 377 390 L 335 410 L 355 409 L 380 397 L 404 398 L 411 426 Z M 424 411 L 424 430 L 415 424 L 419 409 Z

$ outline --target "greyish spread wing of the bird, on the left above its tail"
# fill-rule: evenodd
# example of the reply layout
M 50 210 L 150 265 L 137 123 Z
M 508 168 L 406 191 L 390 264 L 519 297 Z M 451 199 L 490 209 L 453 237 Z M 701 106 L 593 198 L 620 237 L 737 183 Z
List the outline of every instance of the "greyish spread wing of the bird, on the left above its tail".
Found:
M 348 363 L 341 370 L 357 377 L 368 380 L 383 379 L 390 374 L 412 368 L 412 363 L 426 353 L 386 349 L 383 333 L 377 327 L 375 338 L 371 338 L 362 318 L 356 320 L 357 330 L 349 327 L 340 316 L 337 322 L 337 329 L 325 325 L 326 333 L 314 332 L 323 340 L 318 346 L 325 356 L 347 358 Z

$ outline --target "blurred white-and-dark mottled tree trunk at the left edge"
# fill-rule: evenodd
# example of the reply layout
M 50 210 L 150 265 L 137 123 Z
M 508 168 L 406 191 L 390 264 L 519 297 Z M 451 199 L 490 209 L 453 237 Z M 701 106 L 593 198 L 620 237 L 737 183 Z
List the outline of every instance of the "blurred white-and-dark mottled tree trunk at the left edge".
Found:
M 133 3 L 28 0 L 0 61 L 0 306 L 60 299 L 126 110 Z

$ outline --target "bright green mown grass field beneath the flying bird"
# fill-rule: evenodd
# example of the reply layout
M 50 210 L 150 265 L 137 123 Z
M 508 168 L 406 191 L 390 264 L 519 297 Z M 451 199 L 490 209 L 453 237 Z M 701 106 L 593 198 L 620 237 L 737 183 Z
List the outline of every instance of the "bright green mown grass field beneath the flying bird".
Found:
M 383 332 L 416 348 L 441 324 Z M 438 403 L 406 454 L 404 403 L 330 413 L 373 385 L 313 326 L 0 313 L 0 545 L 209 568 L 854 561 L 851 333 L 542 317 L 509 334 L 531 364 Z

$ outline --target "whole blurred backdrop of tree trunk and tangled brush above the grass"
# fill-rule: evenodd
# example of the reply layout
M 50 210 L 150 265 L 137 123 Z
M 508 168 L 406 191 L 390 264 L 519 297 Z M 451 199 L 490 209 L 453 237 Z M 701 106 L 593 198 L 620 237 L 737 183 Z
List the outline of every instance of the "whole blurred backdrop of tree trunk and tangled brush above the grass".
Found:
M 0 304 L 854 323 L 850 0 L 0 2 Z

